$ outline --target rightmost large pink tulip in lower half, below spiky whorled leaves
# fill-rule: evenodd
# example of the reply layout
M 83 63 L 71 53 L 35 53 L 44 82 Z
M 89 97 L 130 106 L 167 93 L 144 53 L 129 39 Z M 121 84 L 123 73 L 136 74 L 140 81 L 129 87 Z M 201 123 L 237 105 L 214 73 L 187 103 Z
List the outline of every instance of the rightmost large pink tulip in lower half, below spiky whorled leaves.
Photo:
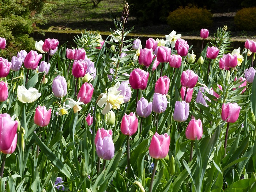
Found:
M 221 118 L 227 123 L 235 123 L 239 117 L 240 106 L 237 103 L 223 103 L 221 110 Z

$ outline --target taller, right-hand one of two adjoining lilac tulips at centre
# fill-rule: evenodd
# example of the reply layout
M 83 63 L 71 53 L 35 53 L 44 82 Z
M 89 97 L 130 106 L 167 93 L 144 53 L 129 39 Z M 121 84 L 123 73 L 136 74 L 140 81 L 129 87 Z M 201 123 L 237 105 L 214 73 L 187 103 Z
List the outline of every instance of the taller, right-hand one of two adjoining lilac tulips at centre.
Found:
M 155 113 L 163 113 L 167 108 L 166 95 L 154 93 L 152 101 L 152 111 Z

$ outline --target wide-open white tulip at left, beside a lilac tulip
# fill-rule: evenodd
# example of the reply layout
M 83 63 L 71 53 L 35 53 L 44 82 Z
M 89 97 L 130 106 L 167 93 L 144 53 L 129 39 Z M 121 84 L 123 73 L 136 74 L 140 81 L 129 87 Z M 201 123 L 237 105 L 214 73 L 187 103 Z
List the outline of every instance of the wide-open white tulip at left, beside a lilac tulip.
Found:
M 38 93 L 38 90 L 30 87 L 29 90 L 26 87 L 18 86 L 17 88 L 17 97 L 18 100 L 22 103 L 32 103 L 41 96 L 41 93 Z

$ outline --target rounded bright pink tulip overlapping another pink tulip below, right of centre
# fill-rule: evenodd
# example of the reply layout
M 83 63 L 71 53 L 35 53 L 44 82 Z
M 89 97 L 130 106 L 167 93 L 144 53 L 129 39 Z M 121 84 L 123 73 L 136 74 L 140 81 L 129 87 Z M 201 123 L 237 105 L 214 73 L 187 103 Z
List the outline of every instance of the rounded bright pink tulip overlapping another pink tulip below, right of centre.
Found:
M 198 75 L 195 74 L 195 72 L 193 72 L 192 70 L 188 69 L 187 71 L 182 72 L 180 82 L 183 87 L 188 87 L 192 89 L 193 87 L 195 87 L 197 80 Z

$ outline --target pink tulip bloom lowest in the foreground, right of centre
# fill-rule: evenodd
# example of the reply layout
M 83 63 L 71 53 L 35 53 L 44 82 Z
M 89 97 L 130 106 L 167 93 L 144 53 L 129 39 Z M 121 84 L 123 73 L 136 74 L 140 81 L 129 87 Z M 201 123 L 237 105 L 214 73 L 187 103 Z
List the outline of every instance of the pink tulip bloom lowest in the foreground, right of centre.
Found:
M 165 133 L 159 135 L 155 132 L 148 148 L 150 157 L 154 159 L 163 159 L 169 152 L 170 136 Z

